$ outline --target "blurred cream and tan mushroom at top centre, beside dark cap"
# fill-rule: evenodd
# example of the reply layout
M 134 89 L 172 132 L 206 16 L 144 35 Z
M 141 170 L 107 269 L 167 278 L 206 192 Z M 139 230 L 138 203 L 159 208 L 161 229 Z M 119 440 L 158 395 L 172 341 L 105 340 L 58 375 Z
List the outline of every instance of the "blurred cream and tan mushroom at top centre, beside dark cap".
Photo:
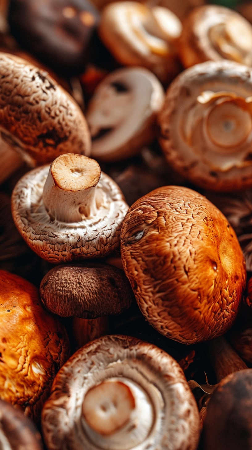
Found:
M 167 82 L 180 72 L 174 41 L 180 19 L 162 6 L 117 1 L 102 11 L 99 35 L 113 56 L 127 66 L 143 66 Z

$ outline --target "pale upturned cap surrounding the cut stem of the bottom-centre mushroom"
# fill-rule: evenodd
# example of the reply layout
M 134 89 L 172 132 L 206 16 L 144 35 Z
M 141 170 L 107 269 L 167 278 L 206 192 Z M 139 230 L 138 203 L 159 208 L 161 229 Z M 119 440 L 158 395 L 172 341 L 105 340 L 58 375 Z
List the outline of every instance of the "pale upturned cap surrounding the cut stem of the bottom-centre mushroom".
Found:
M 90 438 L 91 430 L 81 417 L 85 394 L 102 381 L 115 379 L 134 389 L 134 394 L 138 389 L 148 408 L 151 405 L 152 423 L 148 423 L 147 436 L 137 445 L 139 450 L 147 446 L 150 450 L 197 448 L 198 408 L 176 361 L 158 347 L 136 338 L 105 336 L 78 350 L 54 379 L 51 396 L 42 412 L 43 434 L 49 450 L 136 448 L 127 440 L 134 435 L 132 429 L 124 427 L 115 433 L 118 436 L 124 430 L 116 445 L 111 437 L 103 438 L 99 433 Z M 138 395 L 134 395 L 136 405 L 141 402 Z M 142 410 L 146 423 L 148 408 Z

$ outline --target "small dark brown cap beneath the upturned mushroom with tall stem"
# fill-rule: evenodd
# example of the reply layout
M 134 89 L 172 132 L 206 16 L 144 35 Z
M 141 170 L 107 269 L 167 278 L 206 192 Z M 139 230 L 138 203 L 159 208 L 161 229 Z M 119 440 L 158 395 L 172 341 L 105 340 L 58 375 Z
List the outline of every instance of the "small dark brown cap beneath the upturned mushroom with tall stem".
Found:
M 102 263 L 57 266 L 40 284 L 46 308 L 61 317 L 97 317 L 120 314 L 134 299 L 123 270 Z

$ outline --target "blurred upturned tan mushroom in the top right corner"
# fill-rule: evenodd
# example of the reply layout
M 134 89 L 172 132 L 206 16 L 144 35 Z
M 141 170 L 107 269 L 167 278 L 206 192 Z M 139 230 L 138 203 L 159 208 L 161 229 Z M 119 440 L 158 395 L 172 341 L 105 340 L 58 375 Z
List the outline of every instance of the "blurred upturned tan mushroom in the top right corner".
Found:
M 178 51 L 184 67 L 221 59 L 251 67 L 252 26 L 232 9 L 200 6 L 184 20 Z

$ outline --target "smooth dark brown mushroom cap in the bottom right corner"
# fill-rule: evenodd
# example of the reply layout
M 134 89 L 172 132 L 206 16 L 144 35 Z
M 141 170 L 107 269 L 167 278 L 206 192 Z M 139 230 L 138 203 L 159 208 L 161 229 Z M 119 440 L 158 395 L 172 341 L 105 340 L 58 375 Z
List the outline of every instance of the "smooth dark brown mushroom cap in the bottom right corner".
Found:
M 225 377 L 207 405 L 205 450 L 252 449 L 252 369 Z

